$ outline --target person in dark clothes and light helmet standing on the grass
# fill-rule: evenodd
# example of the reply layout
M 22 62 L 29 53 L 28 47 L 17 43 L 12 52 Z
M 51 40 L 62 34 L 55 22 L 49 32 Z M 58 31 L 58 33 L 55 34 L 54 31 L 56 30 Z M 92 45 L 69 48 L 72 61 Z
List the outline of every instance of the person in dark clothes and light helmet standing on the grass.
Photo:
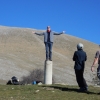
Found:
M 85 68 L 85 61 L 87 60 L 86 52 L 83 51 L 83 44 L 77 44 L 77 51 L 74 52 L 73 61 L 75 61 L 74 69 L 76 80 L 80 87 L 79 92 L 87 91 L 88 86 L 84 79 L 83 73 Z

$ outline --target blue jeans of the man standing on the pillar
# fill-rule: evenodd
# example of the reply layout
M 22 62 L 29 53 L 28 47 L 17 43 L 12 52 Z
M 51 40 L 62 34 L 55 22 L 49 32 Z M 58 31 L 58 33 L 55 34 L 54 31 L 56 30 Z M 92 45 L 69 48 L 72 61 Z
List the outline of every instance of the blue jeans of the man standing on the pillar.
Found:
M 52 46 L 53 42 L 45 42 L 46 59 L 52 59 Z

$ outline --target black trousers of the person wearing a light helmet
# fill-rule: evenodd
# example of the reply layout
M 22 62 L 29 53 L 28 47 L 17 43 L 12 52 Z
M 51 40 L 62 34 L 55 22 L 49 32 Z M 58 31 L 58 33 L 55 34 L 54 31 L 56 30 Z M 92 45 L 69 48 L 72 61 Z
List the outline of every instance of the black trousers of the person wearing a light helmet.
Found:
M 86 84 L 86 81 L 84 79 L 83 73 L 84 73 L 84 70 L 76 70 L 75 69 L 76 81 L 77 81 L 78 86 L 80 88 L 87 87 L 87 84 Z

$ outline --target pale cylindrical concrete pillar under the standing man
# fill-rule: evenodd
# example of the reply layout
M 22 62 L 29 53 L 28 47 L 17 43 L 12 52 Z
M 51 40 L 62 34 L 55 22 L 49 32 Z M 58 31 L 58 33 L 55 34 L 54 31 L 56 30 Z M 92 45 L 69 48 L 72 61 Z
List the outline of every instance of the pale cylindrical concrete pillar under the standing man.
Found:
M 45 61 L 44 84 L 52 84 L 52 61 Z

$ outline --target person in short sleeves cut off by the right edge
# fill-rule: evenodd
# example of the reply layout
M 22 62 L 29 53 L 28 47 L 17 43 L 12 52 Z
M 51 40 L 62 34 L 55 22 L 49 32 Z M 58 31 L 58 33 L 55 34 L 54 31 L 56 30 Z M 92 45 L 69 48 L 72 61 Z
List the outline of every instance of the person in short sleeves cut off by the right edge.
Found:
M 91 71 L 94 71 L 94 66 L 98 63 L 98 68 L 97 68 L 97 77 L 100 79 L 100 50 L 96 52 L 95 54 L 95 59 L 93 61 L 93 64 L 91 66 Z

